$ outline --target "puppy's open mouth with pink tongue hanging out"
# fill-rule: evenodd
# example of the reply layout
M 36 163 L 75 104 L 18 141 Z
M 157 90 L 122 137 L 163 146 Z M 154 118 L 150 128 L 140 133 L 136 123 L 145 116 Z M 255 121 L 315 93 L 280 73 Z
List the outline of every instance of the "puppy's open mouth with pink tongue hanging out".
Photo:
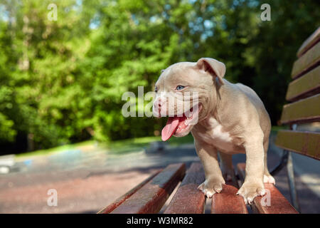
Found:
M 198 107 L 193 106 L 188 113 L 183 113 L 181 117 L 175 115 L 169 117 L 166 126 L 161 131 L 161 139 L 163 141 L 169 140 L 172 135 L 175 136 L 184 136 L 188 133 L 193 125 L 198 121 L 198 114 L 202 108 L 201 104 L 197 105 Z

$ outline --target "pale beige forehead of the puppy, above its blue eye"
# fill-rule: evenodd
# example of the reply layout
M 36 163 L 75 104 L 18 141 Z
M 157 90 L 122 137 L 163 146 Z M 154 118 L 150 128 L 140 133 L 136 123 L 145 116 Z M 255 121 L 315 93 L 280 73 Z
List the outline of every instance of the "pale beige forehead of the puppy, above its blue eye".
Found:
M 188 86 L 195 79 L 195 63 L 175 63 L 166 68 L 156 82 L 156 87 L 161 90 L 170 89 L 173 86 Z

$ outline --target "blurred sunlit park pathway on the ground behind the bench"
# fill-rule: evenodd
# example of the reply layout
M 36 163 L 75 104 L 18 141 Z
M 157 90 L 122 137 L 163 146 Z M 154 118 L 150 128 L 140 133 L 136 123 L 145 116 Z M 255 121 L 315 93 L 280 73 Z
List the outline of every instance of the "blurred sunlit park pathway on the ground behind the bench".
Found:
M 273 138 L 272 138 L 273 140 Z M 270 145 L 268 163 L 277 165 L 281 150 Z M 0 213 L 95 213 L 151 173 L 174 162 L 199 161 L 192 144 L 164 151 L 113 154 L 97 146 L 18 160 L 16 172 L 0 175 Z M 233 156 L 245 162 L 245 155 Z M 316 161 L 294 155 L 297 191 L 304 213 L 320 213 L 320 170 Z M 275 177 L 289 199 L 286 171 Z M 58 193 L 58 206 L 47 204 L 48 190 Z

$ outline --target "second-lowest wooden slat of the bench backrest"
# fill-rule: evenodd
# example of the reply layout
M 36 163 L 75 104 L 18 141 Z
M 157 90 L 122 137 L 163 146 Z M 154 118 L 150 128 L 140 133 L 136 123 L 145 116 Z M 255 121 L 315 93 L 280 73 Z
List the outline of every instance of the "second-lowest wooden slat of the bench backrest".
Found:
M 299 123 L 320 119 L 320 94 L 283 106 L 281 123 Z

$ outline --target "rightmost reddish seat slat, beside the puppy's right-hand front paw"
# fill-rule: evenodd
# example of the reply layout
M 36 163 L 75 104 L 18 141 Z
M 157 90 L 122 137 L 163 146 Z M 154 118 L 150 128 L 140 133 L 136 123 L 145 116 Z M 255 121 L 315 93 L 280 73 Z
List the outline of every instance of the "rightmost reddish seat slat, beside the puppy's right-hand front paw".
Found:
M 245 180 L 245 163 L 238 163 L 238 175 L 240 179 Z M 289 201 L 277 190 L 272 184 L 265 184 L 265 190 L 270 192 L 270 205 L 267 205 L 263 197 L 255 197 L 251 208 L 255 213 L 260 214 L 298 214 L 297 210 L 292 207 Z M 265 197 L 265 196 L 264 196 Z M 262 203 L 265 202 L 264 206 Z

